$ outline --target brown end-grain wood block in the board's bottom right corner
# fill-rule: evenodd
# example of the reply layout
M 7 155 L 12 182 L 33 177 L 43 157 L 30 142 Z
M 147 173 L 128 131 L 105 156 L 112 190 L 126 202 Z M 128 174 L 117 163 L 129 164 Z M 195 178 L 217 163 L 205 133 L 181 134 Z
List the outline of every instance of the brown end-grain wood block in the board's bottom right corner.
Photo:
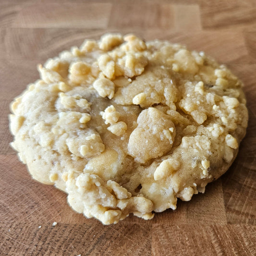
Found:
M 152 255 L 256 254 L 256 227 L 252 225 L 154 224 L 152 228 Z

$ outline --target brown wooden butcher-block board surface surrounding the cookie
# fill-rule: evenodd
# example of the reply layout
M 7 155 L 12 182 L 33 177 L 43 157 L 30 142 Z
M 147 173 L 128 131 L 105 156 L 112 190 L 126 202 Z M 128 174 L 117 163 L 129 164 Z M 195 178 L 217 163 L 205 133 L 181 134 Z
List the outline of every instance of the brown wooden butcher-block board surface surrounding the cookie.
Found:
M 237 159 L 205 194 L 149 221 L 103 226 L 31 179 L 9 146 L 7 116 L 37 63 L 109 31 L 180 42 L 227 64 L 244 81 L 250 120 Z M 0 0 L 0 255 L 79 254 L 256 255 L 255 0 Z

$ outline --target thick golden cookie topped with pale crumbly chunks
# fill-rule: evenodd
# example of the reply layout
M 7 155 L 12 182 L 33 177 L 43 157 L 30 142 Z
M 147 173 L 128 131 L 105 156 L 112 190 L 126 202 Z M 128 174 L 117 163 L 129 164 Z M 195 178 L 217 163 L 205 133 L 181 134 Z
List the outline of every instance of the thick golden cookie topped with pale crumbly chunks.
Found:
M 203 193 L 245 135 L 242 82 L 178 44 L 106 34 L 38 71 L 11 105 L 12 147 L 34 179 L 104 224 Z

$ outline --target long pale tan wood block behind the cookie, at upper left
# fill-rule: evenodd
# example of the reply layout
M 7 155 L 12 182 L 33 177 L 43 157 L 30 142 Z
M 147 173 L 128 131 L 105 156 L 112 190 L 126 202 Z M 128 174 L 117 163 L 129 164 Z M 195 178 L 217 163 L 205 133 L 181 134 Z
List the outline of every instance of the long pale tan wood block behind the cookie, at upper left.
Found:
M 110 3 L 31 3 L 16 15 L 12 27 L 107 27 Z M 69 18 L 67 19 L 67 14 Z

